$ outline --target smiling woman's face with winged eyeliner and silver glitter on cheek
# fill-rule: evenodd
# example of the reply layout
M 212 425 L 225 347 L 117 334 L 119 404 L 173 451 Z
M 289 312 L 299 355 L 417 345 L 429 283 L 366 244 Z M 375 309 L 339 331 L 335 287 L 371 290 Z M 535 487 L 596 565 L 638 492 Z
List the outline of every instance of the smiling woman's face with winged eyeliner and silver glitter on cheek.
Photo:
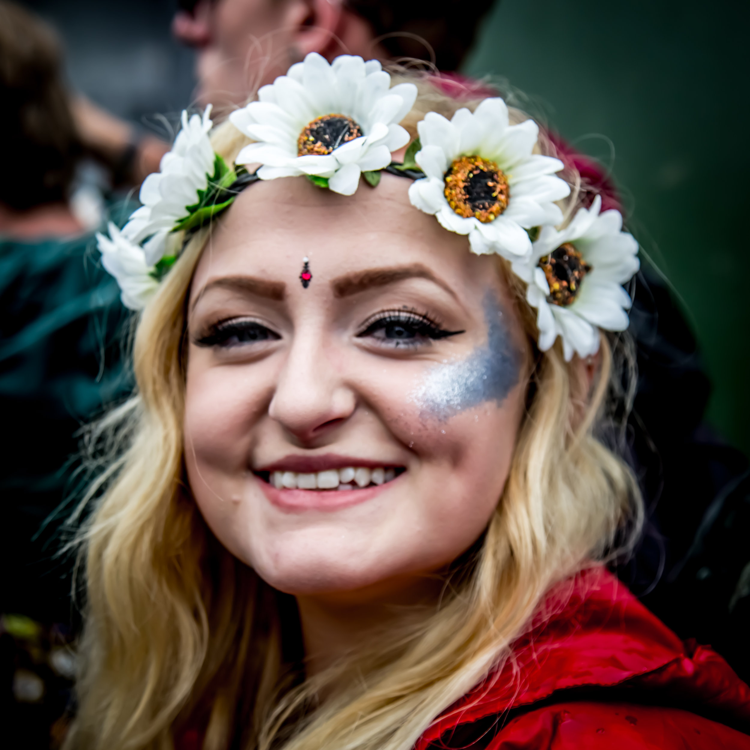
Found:
M 425 580 L 481 535 L 508 476 L 528 345 L 495 260 L 413 208 L 409 184 L 254 184 L 196 269 L 190 488 L 284 592 Z

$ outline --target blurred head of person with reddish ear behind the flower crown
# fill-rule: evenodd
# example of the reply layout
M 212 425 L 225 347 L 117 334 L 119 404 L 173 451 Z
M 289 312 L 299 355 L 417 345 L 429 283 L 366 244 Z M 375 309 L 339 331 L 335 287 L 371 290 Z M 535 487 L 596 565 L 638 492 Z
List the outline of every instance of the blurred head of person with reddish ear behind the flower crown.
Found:
M 309 52 L 331 61 L 424 60 L 457 71 L 493 0 L 461 13 L 456 0 L 179 0 L 172 22 L 197 52 L 197 99 L 219 111 L 244 104 L 260 86 Z

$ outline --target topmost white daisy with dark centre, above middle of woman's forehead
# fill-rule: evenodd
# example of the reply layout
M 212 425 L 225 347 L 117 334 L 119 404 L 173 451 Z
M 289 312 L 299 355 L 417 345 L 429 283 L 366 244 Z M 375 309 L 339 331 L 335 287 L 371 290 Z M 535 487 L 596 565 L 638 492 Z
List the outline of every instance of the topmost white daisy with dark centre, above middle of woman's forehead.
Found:
M 262 164 L 258 176 L 264 180 L 311 175 L 352 195 L 362 172 L 388 166 L 391 152 L 409 142 L 398 123 L 416 95 L 413 83 L 391 87 L 377 60 L 341 55 L 329 65 L 311 52 L 263 86 L 259 101 L 229 115 L 257 141 L 240 151 L 236 163 Z

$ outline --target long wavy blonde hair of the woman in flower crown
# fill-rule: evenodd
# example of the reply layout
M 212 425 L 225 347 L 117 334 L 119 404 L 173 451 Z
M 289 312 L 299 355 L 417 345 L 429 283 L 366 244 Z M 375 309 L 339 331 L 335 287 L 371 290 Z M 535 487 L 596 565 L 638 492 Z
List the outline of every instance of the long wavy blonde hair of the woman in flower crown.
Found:
M 419 89 L 405 123 L 412 133 L 425 110 L 450 116 L 478 103 L 424 81 Z M 230 125 L 214 133 L 228 160 L 244 143 Z M 576 203 L 574 194 L 568 214 Z M 505 490 L 483 538 L 446 577 L 440 605 L 295 682 L 284 653 L 295 638 L 281 637 L 291 598 L 218 543 L 185 478 L 185 301 L 208 236 L 202 229 L 190 239 L 142 314 L 137 394 L 89 434 L 104 469 L 78 535 L 86 626 L 68 748 L 170 748 L 175 733 L 198 722 L 208 727 L 206 750 L 408 750 L 440 712 L 496 673 L 553 584 L 628 547 L 640 528 L 633 475 L 595 437 L 619 383 L 610 341 L 602 337 L 591 388 L 559 345 L 543 356 L 532 347 L 528 408 Z M 533 342 L 523 284 L 497 263 Z M 343 676 L 347 688 L 335 689 Z

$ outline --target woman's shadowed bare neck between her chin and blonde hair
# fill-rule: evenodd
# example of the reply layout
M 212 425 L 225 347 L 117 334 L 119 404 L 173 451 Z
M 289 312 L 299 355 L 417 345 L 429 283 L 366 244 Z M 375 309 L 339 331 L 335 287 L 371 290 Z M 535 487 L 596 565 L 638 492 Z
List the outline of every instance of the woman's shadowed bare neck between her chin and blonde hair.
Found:
M 434 611 L 443 586 L 440 577 L 430 576 L 374 591 L 297 596 L 308 677 L 362 652 L 376 634 Z

